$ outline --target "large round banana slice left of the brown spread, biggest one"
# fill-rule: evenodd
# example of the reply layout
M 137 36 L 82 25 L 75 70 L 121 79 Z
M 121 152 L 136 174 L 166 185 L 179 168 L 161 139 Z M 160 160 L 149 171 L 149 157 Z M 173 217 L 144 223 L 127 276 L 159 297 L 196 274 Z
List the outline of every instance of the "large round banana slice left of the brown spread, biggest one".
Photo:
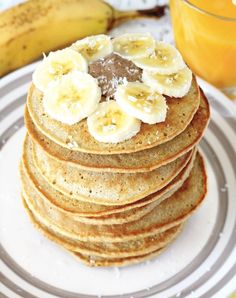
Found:
M 43 96 L 43 106 L 51 118 L 72 125 L 91 115 L 100 99 L 97 80 L 87 73 L 75 71 L 49 85 Z

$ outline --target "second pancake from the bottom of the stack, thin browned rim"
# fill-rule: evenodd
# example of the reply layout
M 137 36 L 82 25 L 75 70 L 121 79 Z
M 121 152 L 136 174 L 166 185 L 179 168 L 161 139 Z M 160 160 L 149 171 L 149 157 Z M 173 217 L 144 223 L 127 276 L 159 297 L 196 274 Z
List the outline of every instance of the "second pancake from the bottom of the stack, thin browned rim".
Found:
M 35 212 L 33 208 L 31 208 L 31 206 L 27 205 L 27 202 L 24 200 L 24 198 L 23 202 L 33 224 L 40 229 L 47 238 L 56 242 L 67 250 L 108 259 L 127 258 L 156 251 L 157 249 L 162 248 L 167 243 L 172 241 L 182 227 L 179 225 L 163 233 L 140 238 L 138 240 L 129 240 L 126 242 L 83 242 L 79 240 L 71 240 L 67 237 L 60 237 L 60 235 L 57 235 L 51 231 L 47 222 L 45 222 L 44 219 L 40 217 L 40 215 Z

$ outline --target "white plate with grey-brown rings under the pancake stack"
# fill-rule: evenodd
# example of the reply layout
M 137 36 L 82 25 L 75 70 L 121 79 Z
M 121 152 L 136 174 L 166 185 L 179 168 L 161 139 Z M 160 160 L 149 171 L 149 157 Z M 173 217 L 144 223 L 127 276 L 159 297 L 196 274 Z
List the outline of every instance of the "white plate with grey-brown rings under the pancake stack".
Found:
M 87 268 L 30 223 L 20 198 L 23 110 L 32 71 L 0 82 L 0 292 L 3 297 L 226 297 L 236 285 L 236 111 L 200 80 L 212 107 L 200 144 L 209 192 L 180 237 L 156 259 L 122 269 Z M 4 296 L 5 295 L 5 296 Z M 120 296 L 121 295 L 121 296 Z

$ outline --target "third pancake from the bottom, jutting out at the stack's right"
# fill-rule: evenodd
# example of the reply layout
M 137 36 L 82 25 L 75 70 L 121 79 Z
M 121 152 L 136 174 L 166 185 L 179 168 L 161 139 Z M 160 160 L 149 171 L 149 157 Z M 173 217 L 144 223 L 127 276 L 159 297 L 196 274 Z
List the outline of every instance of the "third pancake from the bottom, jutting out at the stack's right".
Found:
M 207 192 L 206 172 L 197 154 L 193 169 L 182 187 L 150 213 L 121 225 L 89 225 L 71 219 L 70 214 L 44 206 L 38 193 L 24 194 L 29 206 L 50 222 L 50 229 L 61 237 L 95 242 L 123 242 L 166 231 L 183 223 L 201 204 Z

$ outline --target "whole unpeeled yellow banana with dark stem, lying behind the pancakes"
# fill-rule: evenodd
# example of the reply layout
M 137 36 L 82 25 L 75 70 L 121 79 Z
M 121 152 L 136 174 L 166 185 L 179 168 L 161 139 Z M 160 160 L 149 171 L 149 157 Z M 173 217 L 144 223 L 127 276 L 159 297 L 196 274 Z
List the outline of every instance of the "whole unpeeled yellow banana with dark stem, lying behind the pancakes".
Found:
M 147 11 L 158 15 L 159 10 Z M 0 77 L 92 34 L 104 33 L 124 19 L 142 15 L 119 12 L 101 0 L 29 0 L 0 14 Z

